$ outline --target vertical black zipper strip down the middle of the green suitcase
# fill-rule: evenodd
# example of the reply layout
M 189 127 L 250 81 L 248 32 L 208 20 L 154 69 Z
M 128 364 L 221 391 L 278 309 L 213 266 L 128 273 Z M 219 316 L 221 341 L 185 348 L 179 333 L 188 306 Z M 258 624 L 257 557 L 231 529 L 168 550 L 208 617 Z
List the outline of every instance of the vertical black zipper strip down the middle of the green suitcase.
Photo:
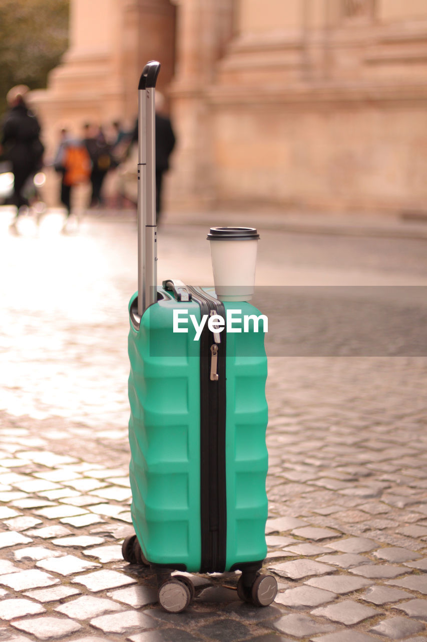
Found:
M 190 287 L 201 315 L 213 309 L 225 319 L 224 305 L 201 288 Z M 200 337 L 200 512 L 201 573 L 222 573 L 226 566 L 226 331 L 217 343 L 218 380 L 211 381 L 211 345 L 208 323 Z

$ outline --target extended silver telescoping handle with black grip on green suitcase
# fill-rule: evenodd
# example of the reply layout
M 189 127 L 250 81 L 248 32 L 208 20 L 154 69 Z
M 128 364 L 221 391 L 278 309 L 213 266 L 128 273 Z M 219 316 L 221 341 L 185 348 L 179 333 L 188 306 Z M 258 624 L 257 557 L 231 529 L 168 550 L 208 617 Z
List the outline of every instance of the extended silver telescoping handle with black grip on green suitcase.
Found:
M 138 315 L 157 300 L 155 92 L 160 62 L 144 67 L 138 85 Z

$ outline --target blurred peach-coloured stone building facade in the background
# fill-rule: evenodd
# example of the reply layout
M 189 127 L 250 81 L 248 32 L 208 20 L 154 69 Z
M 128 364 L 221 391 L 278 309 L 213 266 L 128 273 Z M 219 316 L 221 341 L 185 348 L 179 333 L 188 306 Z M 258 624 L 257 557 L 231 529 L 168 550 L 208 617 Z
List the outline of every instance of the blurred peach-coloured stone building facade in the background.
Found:
M 426 209 L 425 0 L 71 0 L 71 44 L 35 101 L 135 117 L 147 60 L 178 134 L 171 209 Z

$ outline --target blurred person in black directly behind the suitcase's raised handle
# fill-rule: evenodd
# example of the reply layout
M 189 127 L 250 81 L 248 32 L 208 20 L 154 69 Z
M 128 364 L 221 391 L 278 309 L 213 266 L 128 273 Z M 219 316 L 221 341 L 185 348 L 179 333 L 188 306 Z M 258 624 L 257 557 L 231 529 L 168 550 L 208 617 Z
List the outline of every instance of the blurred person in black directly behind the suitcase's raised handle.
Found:
M 169 169 L 169 157 L 174 149 L 176 138 L 171 119 L 165 112 L 163 94 L 156 92 L 156 223 L 162 214 L 163 175 Z M 132 141 L 138 141 L 138 123 L 133 132 Z

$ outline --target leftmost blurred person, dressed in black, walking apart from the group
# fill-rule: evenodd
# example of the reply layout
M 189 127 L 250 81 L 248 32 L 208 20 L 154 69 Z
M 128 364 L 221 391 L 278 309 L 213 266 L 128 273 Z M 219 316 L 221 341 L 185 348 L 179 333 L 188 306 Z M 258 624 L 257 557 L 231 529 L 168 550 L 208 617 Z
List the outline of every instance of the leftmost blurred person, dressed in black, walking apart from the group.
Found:
M 2 125 L 1 153 L 4 160 L 12 165 L 14 177 L 10 204 L 17 208 L 12 230 L 16 230 L 19 214 L 28 211 L 29 201 L 24 195 L 26 182 L 43 166 L 44 146 L 40 141 L 40 125 L 26 105 L 28 91 L 26 85 L 10 89 L 6 96 L 9 111 Z

